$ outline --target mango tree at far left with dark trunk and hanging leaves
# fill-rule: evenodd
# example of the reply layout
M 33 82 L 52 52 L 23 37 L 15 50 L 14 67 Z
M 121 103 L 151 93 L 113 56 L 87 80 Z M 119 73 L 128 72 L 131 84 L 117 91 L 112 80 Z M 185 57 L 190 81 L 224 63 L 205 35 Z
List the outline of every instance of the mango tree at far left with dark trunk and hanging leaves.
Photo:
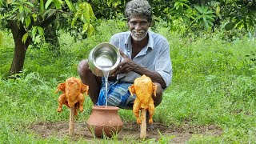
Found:
M 44 30 L 54 24 L 72 34 L 93 34 L 95 16 L 87 2 L 70 0 L 1 0 L 0 26 L 14 38 L 14 58 L 9 74 L 18 74 L 31 44 L 44 42 Z

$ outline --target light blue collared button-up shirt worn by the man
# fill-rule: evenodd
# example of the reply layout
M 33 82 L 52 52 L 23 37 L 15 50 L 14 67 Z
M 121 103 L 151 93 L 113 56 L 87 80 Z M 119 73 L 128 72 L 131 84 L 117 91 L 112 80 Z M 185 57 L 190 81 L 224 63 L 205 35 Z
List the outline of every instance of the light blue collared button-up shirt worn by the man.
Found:
M 166 87 L 170 86 L 172 78 L 172 65 L 170 61 L 170 45 L 166 38 L 160 34 L 148 31 L 149 42 L 147 45 L 133 58 L 143 67 L 150 71 L 157 71 L 166 82 Z M 118 47 L 129 58 L 132 54 L 130 31 L 114 34 L 110 38 L 110 43 Z M 123 58 L 122 58 L 123 60 Z M 134 82 L 135 78 L 141 75 L 130 72 L 128 74 L 118 74 L 120 82 Z

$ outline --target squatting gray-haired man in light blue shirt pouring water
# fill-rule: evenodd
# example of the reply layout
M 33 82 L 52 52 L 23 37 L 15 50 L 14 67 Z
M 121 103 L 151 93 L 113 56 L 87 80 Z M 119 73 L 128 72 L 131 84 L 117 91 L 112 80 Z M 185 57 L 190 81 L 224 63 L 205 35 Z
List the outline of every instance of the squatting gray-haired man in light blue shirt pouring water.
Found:
M 128 87 L 134 79 L 145 74 L 157 85 L 154 106 L 162 102 L 162 91 L 170 86 L 172 66 L 169 42 L 160 34 L 148 30 L 152 24 L 151 6 L 146 0 L 132 0 L 126 4 L 127 26 L 130 31 L 114 34 L 110 43 L 117 46 L 122 55 L 118 69 L 110 76 L 107 104 L 132 109 L 134 97 Z M 78 74 L 88 85 L 94 105 L 105 105 L 105 81 L 92 74 L 88 60 L 78 64 Z M 150 129 L 150 126 L 148 126 Z

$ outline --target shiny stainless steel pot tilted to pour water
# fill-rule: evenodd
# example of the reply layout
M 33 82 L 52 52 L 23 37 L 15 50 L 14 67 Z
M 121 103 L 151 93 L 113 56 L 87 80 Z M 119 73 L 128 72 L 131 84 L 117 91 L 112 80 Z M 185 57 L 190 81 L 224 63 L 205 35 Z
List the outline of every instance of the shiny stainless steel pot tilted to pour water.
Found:
M 103 77 L 102 70 L 114 72 L 114 69 L 121 61 L 121 55 L 116 46 L 103 42 L 94 47 L 89 55 L 89 67 L 94 75 Z

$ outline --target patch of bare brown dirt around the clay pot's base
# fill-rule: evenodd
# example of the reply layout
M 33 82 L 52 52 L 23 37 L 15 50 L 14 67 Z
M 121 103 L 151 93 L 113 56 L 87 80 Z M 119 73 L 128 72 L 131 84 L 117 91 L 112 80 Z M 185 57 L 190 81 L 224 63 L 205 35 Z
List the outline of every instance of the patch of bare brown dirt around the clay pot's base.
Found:
M 204 134 L 210 136 L 218 136 L 222 134 L 222 130 L 217 126 L 189 126 L 184 124 L 183 126 L 170 126 L 166 127 L 161 123 L 153 123 L 154 130 L 147 131 L 146 139 L 155 138 L 156 140 L 161 137 L 160 133 L 164 136 L 174 136 L 171 139 L 172 143 L 186 143 L 192 136 L 192 134 Z M 69 135 L 69 122 L 40 122 L 30 126 L 30 129 L 41 136 L 42 138 L 48 138 L 55 136 L 58 138 L 64 138 Z M 124 122 L 123 130 L 118 134 L 118 139 L 122 138 L 138 138 L 140 132 L 136 122 Z M 74 125 L 74 140 L 78 138 L 86 138 L 90 142 L 93 141 L 94 135 L 86 127 L 86 122 L 76 122 Z

